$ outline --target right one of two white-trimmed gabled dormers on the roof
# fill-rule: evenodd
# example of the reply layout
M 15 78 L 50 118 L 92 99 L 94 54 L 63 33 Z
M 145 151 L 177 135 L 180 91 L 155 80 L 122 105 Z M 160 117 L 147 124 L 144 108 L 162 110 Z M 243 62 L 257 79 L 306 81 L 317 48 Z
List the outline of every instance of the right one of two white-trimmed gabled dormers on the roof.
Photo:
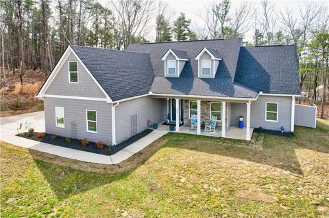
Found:
M 195 59 L 199 78 L 215 78 L 219 61 L 221 61 L 221 55 L 217 50 L 204 48 Z

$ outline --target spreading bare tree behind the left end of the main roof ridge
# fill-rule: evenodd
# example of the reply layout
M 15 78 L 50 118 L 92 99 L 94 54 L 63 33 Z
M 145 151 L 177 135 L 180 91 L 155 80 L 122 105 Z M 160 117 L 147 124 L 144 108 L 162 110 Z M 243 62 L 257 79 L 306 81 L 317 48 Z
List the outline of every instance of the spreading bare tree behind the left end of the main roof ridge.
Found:
M 116 12 L 117 27 L 122 36 L 123 48 L 132 43 L 134 36 L 145 36 L 149 21 L 154 12 L 154 1 L 151 0 L 134 0 L 134 1 L 113 1 L 113 8 Z

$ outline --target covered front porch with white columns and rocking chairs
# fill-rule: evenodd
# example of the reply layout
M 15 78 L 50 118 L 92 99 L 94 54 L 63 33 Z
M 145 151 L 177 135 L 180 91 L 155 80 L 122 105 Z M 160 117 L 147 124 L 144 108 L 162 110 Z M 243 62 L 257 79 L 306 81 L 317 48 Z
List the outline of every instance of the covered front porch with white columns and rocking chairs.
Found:
M 160 96 L 158 98 L 161 98 Z M 162 97 L 163 99 L 163 97 Z M 164 118 L 167 124 L 175 126 L 178 133 L 207 135 L 249 141 L 254 128 L 250 128 L 251 101 L 235 99 L 195 99 L 164 98 Z M 238 128 L 239 116 L 243 116 L 243 128 Z M 191 120 L 197 120 L 192 128 Z M 204 126 L 212 120 L 212 131 L 204 131 Z M 195 120 L 193 122 L 195 122 Z M 169 126 L 159 125 L 160 129 L 169 130 Z

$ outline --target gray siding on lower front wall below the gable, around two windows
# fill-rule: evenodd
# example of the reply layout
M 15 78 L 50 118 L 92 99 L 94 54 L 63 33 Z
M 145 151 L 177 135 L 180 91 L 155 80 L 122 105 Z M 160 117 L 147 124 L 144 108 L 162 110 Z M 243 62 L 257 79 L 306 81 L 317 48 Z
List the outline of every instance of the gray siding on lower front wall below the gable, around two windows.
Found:
M 112 144 L 111 105 L 103 101 L 45 97 L 45 131 L 71 137 L 71 122 L 77 126 L 77 138 Z M 64 128 L 56 127 L 55 107 L 64 107 Z M 86 109 L 97 111 L 97 133 L 87 132 Z

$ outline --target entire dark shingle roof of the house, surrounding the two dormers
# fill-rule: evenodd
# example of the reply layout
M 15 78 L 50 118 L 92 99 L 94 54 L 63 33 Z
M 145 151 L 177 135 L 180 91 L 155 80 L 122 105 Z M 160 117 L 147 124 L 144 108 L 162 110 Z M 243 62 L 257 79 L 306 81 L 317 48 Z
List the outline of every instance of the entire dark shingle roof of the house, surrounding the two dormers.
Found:
M 255 98 L 258 92 L 300 94 L 295 46 L 241 46 L 241 39 L 130 44 L 127 51 L 71 46 L 112 100 L 153 92 Z M 215 79 L 197 76 L 196 55 L 221 58 Z M 179 78 L 164 77 L 171 49 L 188 59 Z

